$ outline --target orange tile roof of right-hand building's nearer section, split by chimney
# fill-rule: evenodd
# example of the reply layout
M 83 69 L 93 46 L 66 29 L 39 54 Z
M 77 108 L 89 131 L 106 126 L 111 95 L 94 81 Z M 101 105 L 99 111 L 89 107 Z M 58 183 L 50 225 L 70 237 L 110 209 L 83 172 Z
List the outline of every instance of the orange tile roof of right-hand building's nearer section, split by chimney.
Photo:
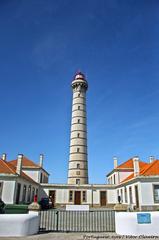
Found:
M 159 160 L 154 160 L 152 163 L 145 163 L 145 165 L 140 166 L 139 176 L 159 176 Z M 125 178 L 122 183 L 134 179 L 134 173 L 130 174 Z

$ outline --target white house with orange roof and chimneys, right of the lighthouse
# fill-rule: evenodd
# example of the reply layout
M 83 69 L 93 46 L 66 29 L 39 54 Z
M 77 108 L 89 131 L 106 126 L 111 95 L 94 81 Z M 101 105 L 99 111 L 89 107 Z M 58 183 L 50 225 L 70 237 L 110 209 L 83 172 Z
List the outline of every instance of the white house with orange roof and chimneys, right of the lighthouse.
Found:
M 159 209 L 159 160 L 150 157 L 142 162 L 134 157 L 117 166 L 107 175 L 121 202 L 139 210 Z M 118 201 L 116 199 L 116 201 Z

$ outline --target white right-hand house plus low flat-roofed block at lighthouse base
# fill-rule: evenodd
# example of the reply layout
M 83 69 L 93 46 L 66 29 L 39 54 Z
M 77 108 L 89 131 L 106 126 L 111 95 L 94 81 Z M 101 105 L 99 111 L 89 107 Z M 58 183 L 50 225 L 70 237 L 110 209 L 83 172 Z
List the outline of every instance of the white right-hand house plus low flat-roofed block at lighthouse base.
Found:
M 151 158 L 152 160 L 152 158 Z M 116 164 L 116 162 L 115 162 Z M 52 196 L 54 206 L 89 204 L 112 208 L 121 203 L 131 209 L 159 209 L 159 160 L 138 157 L 122 163 L 107 175 L 108 184 L 42 184 L 42 196 Z

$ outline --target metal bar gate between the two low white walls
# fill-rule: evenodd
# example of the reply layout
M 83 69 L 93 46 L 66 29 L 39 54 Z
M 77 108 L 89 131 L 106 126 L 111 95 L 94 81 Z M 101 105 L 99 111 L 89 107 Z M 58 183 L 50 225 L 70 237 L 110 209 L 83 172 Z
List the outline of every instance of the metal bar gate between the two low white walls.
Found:
M 40 212 L 40 231 L 55 232 L 114 232 L 113 210 Z

